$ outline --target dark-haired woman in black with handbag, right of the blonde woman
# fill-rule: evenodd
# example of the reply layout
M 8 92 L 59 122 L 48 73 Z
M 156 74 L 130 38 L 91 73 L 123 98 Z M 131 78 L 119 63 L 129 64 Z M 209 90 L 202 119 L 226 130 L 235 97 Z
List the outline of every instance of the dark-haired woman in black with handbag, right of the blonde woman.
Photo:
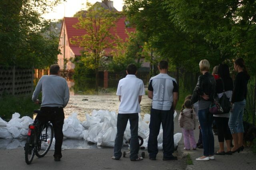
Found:
M 216 95 L 221 98 L 223 95 L 223 90 L 226 96 L 231 102 L 231 96 L 233 91 L 233 80 L 229 74 L 229 68 L 227 64 L 220 64 L 218 67 L 218 72 L 212 72 L 212 74 L 218 74 L 220 78 L 216 79 Z M 224 87 L 224 89 L 223 89 Z M 223 113 L 220 115 L 213 115 L 214 120 L 218 129 L 218 141 L 220 148 L 215 154 L 224 155 L 232 154 L 230 149 L 231 133 L 228 127 L 228 119 L 230 117 L 230 112 Z M 224 139 L 227 145 L 227 151 L 224 151 Z

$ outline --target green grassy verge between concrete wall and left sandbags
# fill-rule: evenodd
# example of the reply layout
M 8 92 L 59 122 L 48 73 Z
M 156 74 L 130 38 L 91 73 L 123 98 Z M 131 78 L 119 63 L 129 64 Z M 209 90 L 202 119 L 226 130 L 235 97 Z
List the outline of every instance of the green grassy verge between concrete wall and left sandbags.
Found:
M 2 96 L 0 98 L 0 117 L 9 121 L 15 112 L 20 113 L 20 118 L 23 116 L 32 117 L 33 110 L 38 109 L 40 106 L 32 102 L 31 96 Z

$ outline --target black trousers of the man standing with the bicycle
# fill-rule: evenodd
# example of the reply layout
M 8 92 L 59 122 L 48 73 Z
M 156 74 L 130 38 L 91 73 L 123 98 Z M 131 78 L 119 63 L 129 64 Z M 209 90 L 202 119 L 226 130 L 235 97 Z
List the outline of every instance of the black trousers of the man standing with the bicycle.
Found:
M 53 126 L 55 137 L 54 155 L 62 156 L 61 146 L 63 142 L 62 127 L 64 124 L 64 111 L 62 107 L 41 107 L 42 114 L 38 114 L 35 120 L 40 121 L 40 124 L 50 121 Z

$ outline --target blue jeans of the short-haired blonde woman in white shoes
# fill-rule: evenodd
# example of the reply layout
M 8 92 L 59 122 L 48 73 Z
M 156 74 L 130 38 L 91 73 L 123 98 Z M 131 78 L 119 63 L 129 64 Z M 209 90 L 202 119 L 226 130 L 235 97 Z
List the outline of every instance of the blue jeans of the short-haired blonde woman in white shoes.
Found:
M 213 115 L 209 113 L 209 108 L 198 110 L 198 118 L 202 131 L 204 156 L 214 155 L 214 137 L 212 133 Z

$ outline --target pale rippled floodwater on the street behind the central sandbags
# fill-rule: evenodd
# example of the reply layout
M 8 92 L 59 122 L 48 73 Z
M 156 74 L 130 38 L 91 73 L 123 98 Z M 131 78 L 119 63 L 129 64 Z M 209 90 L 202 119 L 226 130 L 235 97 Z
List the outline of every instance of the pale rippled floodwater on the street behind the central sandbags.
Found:
M 142 96 L 140 103 L 141 115 L 150 113 L 150 106 L 152 100 L 147 95 Z M 114 94 L 103 94 L 103 95 L 70 95 L 68 105 L 64 108 L 65 118 L 72 113 L 78 113 L 79 121 L 86 120 L 86 113 L 90 114 L 94 109 L 115 111 L 118 113 L 118 106 L 120 102 L 118 96 Z

